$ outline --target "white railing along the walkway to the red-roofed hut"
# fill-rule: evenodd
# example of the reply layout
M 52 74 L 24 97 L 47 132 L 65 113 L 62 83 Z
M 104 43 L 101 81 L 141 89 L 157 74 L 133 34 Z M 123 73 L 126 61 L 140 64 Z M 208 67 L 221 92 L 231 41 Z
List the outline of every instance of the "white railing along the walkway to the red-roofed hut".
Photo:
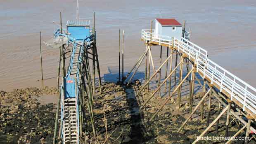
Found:
M 176 39 L 158 35 L 154 33 L 154 30 L 153 33 L 150 33 L 150 30 L 142 30 L 141 39 L 156 44 L 169 46 L 173 44 L 179 52 L 187 54 L 189 59 L 194 60 L 197 72 L 201 72 L 203 78 L 207 77 L 211 80 L 211 84 L 217 84 L 220 87 L 220 92 L 225 90 L 229 93 L 231 100 L 235 98 L 242 104 L 243 110 L 247 108 L 256 114 L 256 89 L 210 60 L 205 49 L 184 38 Z

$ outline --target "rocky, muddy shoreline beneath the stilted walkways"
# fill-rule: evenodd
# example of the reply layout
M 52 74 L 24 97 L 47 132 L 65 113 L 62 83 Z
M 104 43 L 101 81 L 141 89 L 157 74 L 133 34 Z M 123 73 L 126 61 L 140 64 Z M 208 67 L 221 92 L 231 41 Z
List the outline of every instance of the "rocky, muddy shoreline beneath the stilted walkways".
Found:
M 206 128 L 206 118 L 200 120 L 199 111 L 192 121 L 189 121 L 182 132 L 177 133 L 180 125 L 189 114 L 186 96 L 183 96 L 183 107 L 178 109 L 176 99 L 173 97 L 164 109 L 157 114 L 153 121 L 149 121 L 155 111 L 163 104 L 166 97 L 155 95 L 143 107 L 149 94 L 142 91 L 141 96 L 135 93 L 141 87 L 140 82 L 131 86 L 120 86 L 114 83 L 104 83 L 103 91 L 97 91 L 94 99 L 95 126 L 97 139 L 113 144 L 190 144 Z M 10 144 L 14 141 L 29 141 L 31 144 L 52 143 L 56 101 L 50 100 L 40 103 L 42 97 L 52 95 L 57 97 L 54 88 L 24 88 L 13 92 L 0 92 L 0 135 L 8 139 Z M 195 95 L 195 103 L 201 98 L 201 93 Z M 39 102 L 40 101 L 40 102 Z M 205 116 L 207 102 L 205 103 Z M 218 106 L 211 109 L 211 120 L 217 116 Z M 210 129 L 207 136 L 223 136 L 225 133 L 225 116 L 222 116 L 218 134 L 215 127 Z M 230 125 L 229 135 L 239 130 L 235 123 Z M 83 123 L 84 139 L 93 139 L 90 117 L 85 116 Z M 243 135 L 241 135 L 243 136 Z M 81 142 L 84 141 L 81 139 Z M 223 144 L 223 141 L 200 141 L 205 144 Z M 236 141 L 234 144 L 242 144 Z M 255 144 L 251 141 L 250 144 Z

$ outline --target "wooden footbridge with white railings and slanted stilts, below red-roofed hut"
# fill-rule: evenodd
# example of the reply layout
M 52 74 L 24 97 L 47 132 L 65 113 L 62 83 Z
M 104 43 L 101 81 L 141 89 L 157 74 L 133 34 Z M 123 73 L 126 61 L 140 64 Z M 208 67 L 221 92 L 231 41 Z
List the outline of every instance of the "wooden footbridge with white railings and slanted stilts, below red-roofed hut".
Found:
M 174 29 L 174 28 L 173 28 Z M 169 81 L 168 86 L 168 99 L 164 102 L 164 105 L 156 111 L 156 113 L 152 116 L 151 121 L 154 119 L 156 114 L 158 114 L 159 111 L 166 105 L 166 103 L 171 100 L 172 96 L 177 92 L 178 93 L 178 106 L 181 107 L 181 90 L 182 90 L 182 84 L 186 79 L 189 79 L 190 83 L 190 99 L 189 99 L 189 105 L 190 105 L 190 116 L 187 118 L 187 120 L 183 123 L 183 125 L 179 128 L 178 132 L 181 132 L 181 130 L 185 127 L 186 123 L 191 119 L 194 112 L 201 106 L 201 118 L 203 118 L 203 107 L 204 107 L 204 100 L 206 97 L 209 97 L 209 104 L 208 104 L 208 115 L 207 115 L 207 125 L 208 127 L 204 130 L 204 132 L 199 135 L 199 137 L 202 137 L 206 134 L 206 132 L 215 124 L 216 124 L 216 131 L 218 132 L 218 121 L 219 118 L 227 113 L 227 119 L 226 119 L 226 131 L 225 136 L 228 136 L 228 125 L 230 124 L 230 116 L 233 116 L 235 119 L 240 121 L 240 123 L 243 125 L 242 129 L 239 130 L 235 136 L 237 136 L 242 130 L 246 128 L 246 137 L 251 136 L 249 140 L 252 138 L 255 138 L 256 130 L 251 125 L 252 122 L 256 120 L 256 89 L 249 84 L 247 84 L 242 79 L 239 79 L 234 74 L 229 72 L 228 70 L 225 70 L 223 67 L 218 65 L 217 63 L 214 63 L 211 59 L 209 59 L 207 55 L 207 51 L 197 44 L 194 44 L 190 42 L 186 35 L 185 35 L 185 24 L 183 26 L 182 31 L 182 37 L 181 39 L 176 37 L 170 37 L 170 36 L 164 36 L 157 33 L 157 30 L 152 29 L 152 23 L 151 23 L 151 29 L 148 30 L 142 30 L 141 31 L 141 39 L 146 45 L 146 50 L 142 54 L 142 56 L 139 58 L 137 63 L 134 65 L 133 69 L 130 70 L 128 75 L 130 73 L 133 73 L 133 76 L 138 70 L 138 67 L 140 67 L 142 61 L 144 58 L 145 60 L 145 84 L 142 86 L 140 91 L 137 92 L 137 96 L 140 95 L 142 90 L 144 88 L 149 87 L 149 82 L 155 78 L 156 84 L 158 84 L 156 90 L 152 93 L 152 95 L 149 95 L 148 99 L 144 103 L 144 106 L 147 105 L 147 102 L 154 97 L 154 95 L 157 93 L 157 91 L 160 92 L 161 86 L 166 85 L 166 81 Z M 160 60 L 160 67 L 154 67 L 154 61 L 152 59 L 152 53 L 151 48 L 155 46 L 161 46 L 167 47 L 167 58 L 164 60 L 164 63 L 161 63 Z M 171 51 L 171 54 L 168 56 L 168 51 Z M 173 55 L 175 56 L 175 68 L 173 68 Z M 180 61 L 178 63 L 178 57 L 180 57 Z M 160 57 L 161 58 L 161 57 Z M 170 72 L 167 74 L 168 70 L 168 61 L 170 61 Z M 150 64 L 153 67 L 154 73 L 150 76 Z M 164 68 L 164 65 L 166 65 L 166 77 L 164 81 L 161 82 L 161 69 Z M 187 67 L 187 74 L 185 77 L 183 77 L 183 69 L 184 66 Z M 137 68 L 135 68 L 137 67 Z M 176 74 L 179 67 L 179 79 L 178 79 L 178 85 L 175 86 L 174 90 L 171 93 L 171 78 L 172 75 L 174 76 L 175 83 L 176 83 Z M 156 70 L 157 69 L 157 70 Z M 197 77 L 197 75 L 201 76 L 201 80 Z M 128 80 L 128 83 L 130 83 L 133 76 Z M 127 76 L 128 77 L 128 76 Z M 127 78 L 126 77 L 126 78 Z M 158 78 L 159 77 L 159 78 Z M 199 84 L 201 84 L 201 81 L 204 81 L 204 96 L 201 98 L 200 102 L 193 107 L 193 97 L 194 97 L 194 82 L 199 81 Z M 206 91 L 206 85 L 209 86 L 209 90 Z M 167 87 L 167 86 L 166 86 Z M 223 107 L 222 111 L 219 109 L 219 115 L 210 122 L 210 112 L 211 112 L 211 98 L 216 98 L 219 102 L 219 107 Z M 193 144 L 195 144 L 199 139 L 196 139 Z M 249 140 L 246 140 L 245 143 L 248 143 Z M 226 142 L 226 144 L 230 143 L 230 141 Z

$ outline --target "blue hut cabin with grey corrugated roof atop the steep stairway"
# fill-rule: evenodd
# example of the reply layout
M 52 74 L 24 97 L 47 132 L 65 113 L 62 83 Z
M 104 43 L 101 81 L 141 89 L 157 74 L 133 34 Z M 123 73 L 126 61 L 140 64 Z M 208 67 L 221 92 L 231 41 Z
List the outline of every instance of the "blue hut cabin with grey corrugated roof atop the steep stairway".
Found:
M 66 27 L 69 36 L 78 41 L 90 36 L 90 20 L 68 20 Z

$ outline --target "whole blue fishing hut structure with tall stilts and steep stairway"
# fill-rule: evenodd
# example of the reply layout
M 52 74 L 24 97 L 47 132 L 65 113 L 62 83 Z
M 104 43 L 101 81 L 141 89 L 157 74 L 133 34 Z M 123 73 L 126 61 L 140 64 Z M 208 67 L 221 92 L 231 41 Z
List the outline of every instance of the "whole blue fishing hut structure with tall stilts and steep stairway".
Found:
M 60 125 L 58 138 L 62 139 L 62 144 L 81 143 L 79 139 L 83 134 L 82 125 L 85 116 L 85 105 L 87 105 L 87 113 L 90 115 L 93 134 L 96 135 L 92 111 L 92 101 L 96 86 L 96 68 L 99 75 L 99 89 L 101 91 L 100 65 L 96 46 L 95 13 L 92 29 L 90 29 L 89 20 L 68 20 L 66 26 L 67 29 L 61 26 L 54 34 L 55 42 L 61 42 L 60 59 L 62 60 L 63 76 L 59 101 L 57 103 L 53 144 L 56 143 L 57 139 L 58 123 Z M 68 50 L 70 55 L 66 54 Z M 69 67 L 67 73 L 65 73 L 65 59 L 68 57 L 70 57 Z M 92 66 L 90 67 L 91 64 Z M 90 68 L 92 68 L 92 73 Z M 87 103 L 85 104 L 85 102 Z

